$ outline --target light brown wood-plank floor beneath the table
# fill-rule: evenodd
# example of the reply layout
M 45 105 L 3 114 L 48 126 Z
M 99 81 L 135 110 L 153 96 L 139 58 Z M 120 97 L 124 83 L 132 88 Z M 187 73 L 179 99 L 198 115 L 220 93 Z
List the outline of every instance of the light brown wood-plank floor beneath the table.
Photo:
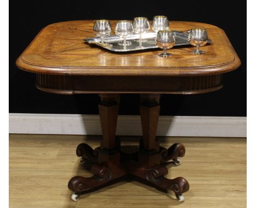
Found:
M 10 134 L 9 207 L 246 207 L 246 138 L 162 137 L 162 146 L 183 143 L 181 166 L 170 167 L 167 178 L 183 176 L 190 183 L 184 203 L 153 187 L 123 181 L 72 201 L 68 180 L 91 174 L 79 164 L 80 143 L 97 147 L 97 136 Z M 122 145 L 138 138 L 121 139 Z

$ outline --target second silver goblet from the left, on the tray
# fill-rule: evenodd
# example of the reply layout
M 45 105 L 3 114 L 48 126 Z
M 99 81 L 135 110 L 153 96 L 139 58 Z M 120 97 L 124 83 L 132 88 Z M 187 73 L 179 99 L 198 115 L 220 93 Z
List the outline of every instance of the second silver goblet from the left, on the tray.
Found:
M 132 34 L 133 27 L 132 23 L 127 20 L 118 21 L 115 26 L 115 34 L 124 39 L 122 42 L 118 42 L 118 45 L 121 46 L 130 46 L 131 42 L 126 41 L 126 36 Z

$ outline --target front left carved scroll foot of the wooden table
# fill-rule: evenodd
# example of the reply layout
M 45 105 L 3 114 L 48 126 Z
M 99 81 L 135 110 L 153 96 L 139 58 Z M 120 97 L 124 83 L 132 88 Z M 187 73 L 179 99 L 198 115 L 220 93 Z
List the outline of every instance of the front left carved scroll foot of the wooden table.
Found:
M 111 180 L 111 174 L 108 168 L 94 164 L 90 171 L 94 173 L 94 176 L 90 178 L 84 178 L 82 176 L 75 176 L 68 182 L 68 188 L 77 194 L 81 194 L 83 191 L 87 191 L 92 188 L 103 185 Z

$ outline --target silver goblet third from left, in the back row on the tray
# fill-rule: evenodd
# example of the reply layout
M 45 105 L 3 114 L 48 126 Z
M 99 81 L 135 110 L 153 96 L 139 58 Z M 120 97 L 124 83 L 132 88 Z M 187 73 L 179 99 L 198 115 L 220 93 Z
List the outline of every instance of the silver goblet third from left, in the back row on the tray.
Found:
M 135 17 L 135 19 L 133 19 L 132 26 L 133 31 L 139 34 L 139 39 L 136 39 L 134 41 L 146 42 L 146 39 L 142 39 L 142 34 L 147 33 L 150 28 L 148 19 L 146 17 Z

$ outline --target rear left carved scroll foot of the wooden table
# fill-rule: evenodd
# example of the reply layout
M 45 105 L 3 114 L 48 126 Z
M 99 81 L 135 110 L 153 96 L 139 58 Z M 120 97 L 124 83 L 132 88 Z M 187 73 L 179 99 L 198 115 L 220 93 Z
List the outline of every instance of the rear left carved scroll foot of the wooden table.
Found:
M 77 156 L 82 157 L 81 164 L 85 164 L 86 161 L 98 163 L 98 151 L 100 148 L 92 149 L 88 144 L 82 143 L 77 146 Z

